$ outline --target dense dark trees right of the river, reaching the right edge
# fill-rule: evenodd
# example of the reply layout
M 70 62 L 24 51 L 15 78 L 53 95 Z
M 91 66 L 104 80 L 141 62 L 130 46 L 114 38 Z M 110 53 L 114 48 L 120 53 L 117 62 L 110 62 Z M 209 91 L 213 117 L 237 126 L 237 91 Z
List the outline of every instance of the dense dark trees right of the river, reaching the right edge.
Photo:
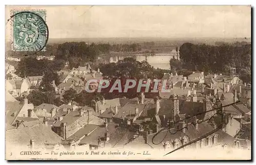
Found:
M 182 69 L 223 74 L 229 74 L 233 67 L 237 68 L 244 82 L 251 81 L 251 44 L 212 46 L 184 43 L 180 46 L 180 59 L 180 64 L 173 60 L 171 63 L 182 66 Z

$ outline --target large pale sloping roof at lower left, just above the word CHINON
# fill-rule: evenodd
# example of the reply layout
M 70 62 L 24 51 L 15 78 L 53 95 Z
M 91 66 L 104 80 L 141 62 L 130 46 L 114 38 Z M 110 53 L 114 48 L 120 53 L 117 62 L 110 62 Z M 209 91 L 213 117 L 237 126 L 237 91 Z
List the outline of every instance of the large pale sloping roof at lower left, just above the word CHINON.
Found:
M 30 140 L 34 140 L 35 146 L 39 146 L 44 145 L 44 143 L 60 143 L 61 137 L 54 133 L 51 127 L 47 127 L 41 122 L 6 131 L 7 144 L 27 146 Z

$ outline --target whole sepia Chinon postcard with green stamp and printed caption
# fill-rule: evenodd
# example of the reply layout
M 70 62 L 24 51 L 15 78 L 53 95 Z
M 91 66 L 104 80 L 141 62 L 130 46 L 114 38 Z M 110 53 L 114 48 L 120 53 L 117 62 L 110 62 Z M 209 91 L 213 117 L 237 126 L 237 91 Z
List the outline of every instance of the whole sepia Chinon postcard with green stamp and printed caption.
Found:
M 251 56 L 250 6 L 6 6 L 6 159 L 249 160 Z

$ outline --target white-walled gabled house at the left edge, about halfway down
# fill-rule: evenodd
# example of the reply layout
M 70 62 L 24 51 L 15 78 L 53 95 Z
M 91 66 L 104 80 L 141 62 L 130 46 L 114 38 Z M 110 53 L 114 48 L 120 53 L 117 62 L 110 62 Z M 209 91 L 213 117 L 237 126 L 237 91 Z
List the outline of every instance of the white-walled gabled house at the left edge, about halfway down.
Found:
M 6 90 L 13 97 L 27 96 L 30 93 L 30 86 L 27 78 L 6 80 Z

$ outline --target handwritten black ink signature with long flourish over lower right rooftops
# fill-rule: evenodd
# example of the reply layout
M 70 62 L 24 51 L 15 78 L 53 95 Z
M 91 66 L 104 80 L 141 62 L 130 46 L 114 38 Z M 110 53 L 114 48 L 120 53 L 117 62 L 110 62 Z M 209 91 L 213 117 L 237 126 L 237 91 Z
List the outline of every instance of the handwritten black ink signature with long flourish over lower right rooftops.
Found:
M 212 109 L 210 109 L 210 110 L 208 110 L 208 111 L 202 112 L 202 113 L 198 113 L 198 114 L 196 114 L 196 115 L 194 115 L 194 116 L 188 116 L 188 117 L 186 117 L 186 118 L 184 118 L 184 119 L 182 119 L 182 120 L 176 121 L 175 123 L 179 123 L 179 122 L 185 121 L 185 120 L 187 120 L 187 119 L 193 118 L 193 117 L 195 117 L 195 116 L 199 116 L 199 115 L 206 114 L 206 113 L 208 113 L 208 112 L 212 112 L 212 111 L 219 110 L 219 111 L 217 111 L 217 113 L 215 113 L 214 115 L 212 115 L 210 118 L 205 119 L 205 120 L 203 120 L 203 121 L 208 121 L 208 120 L 212 119 L 215 115 L 219 114 L 219 115 L 221 115 L 221 124 L 220 124 L 216 129 L 214 129 L 214 130 L 212 130 L 212 131 L 210 131 L 210 132 L 204 134 L 204 135 L 201 136 L 201 137 L 198 137 L 197 139 L 195 139 L 195 140 L 193 140 L 193 141 L 190 141 L 190 142 L 187 143 L 187 144 L 184 144 L 184 145 L 182 145 L 182 146 L 180 146 L 180 147 L 174 149 L 173 151 L 170 151 L 170 152 L 166 153 L 164 156 L 166 156 L 166 155 L 168 155 L 168 154 L 170 154 L 170 153 L 173 153 L 173 152 L 175 152 L 175 151 L 177 151 L 177 150 L 179 150 L 179 149 L 182 149 L 182 148 L 184 148 L 184 147 L 186 147 L 186 146 L 188 146 L 188 145 L 190 145 L 190 144 L 193 144 L 193 143 L 195 143 L 195 142 L 197 142 L 197 141 L 200 141 L 200 140 L 204 139 L 205 137 L 207 137 L 208 135 L 210 135 L 210 134 L 212 134 L 212 133 L 215 133 L 216 131 L 218 131 L 219 129 L 221 129 L 224 125 L 227 124 L 226 121 L 224 120 L 224 114 L 226 114 L 226 113 L 222 111 L 222 108 L 223 108 L 223 107 L 226 107 L 226 106 L 231 106 L 231 105 L 233 105 L 233 104 L 236 104 L 236 103 L 240 102 L 240 100 L 239 100 L 239 101 L 236 101 L 236 102 L 227 104 L 227 105 L 222 105 L 222 103 L 221 103 L 221 101 L 220 101 L 219 99 L 217 99 L 216 101 L 217 101 L 217 103 L 216 103 L 217 107 L 214 107 L 214 108 L 212 108 Z M 203 121 L 199 121 L 199 122 L 197 122 L 197 123 L 200 124 L 200 123 L 202 123 Z M 195 124 L 195 123 L 194 123 L 194 124 Z M 159 131 L 153 136 L 153 138 L 152 138 L 152 143 L 153 143 L 154 145 L 158 145 L 158 144 L 160 144 L 160 143 L 162 143 L 162 142 L 164 141 L 165 137 L 167 136 L 168 131 L 166 131 L 166 134 L 165 134 L 164 138 L 162 139 L 162 141 L 161 141 L 160 143 L 154 143 L 155 137 L 156 137 L 160 132 L 162 132 L 163 130 L 167 130 L 167 129 L 168 129 L 169 133 L 175 134 L 175 133 L 177 133 L 178 131 L 181 131 L 182 129 L 188 129 L 188 128 L 187 128 L 187 124 L 185 125 L 185 127 L 181 128 L 181 129 L 179 129 L 179 128 L 178 128 L 178 129 L 177 129 L 177 128 L 170 128 L 170 126 L 167 126 L 167 127 L 165 127 L 165 128 L 162 128 L 162 129 L 159 130 Z M 177 130 L 176 130 L 175 132 L 171 132 L 172 129 L 177 129 Z

